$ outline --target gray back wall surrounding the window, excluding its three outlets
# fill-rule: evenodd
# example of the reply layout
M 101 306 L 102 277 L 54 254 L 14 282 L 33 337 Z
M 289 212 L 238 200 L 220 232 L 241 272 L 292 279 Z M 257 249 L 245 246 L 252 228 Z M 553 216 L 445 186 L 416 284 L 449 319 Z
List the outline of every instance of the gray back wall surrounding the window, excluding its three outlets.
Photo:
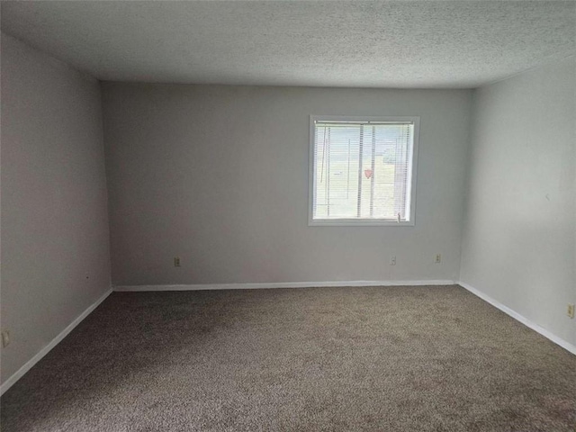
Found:
M 471 94 L 104 83 L 112 283 L 457 279 Z M 310 114 L 421 117 L 415 227 L 308 227 Z

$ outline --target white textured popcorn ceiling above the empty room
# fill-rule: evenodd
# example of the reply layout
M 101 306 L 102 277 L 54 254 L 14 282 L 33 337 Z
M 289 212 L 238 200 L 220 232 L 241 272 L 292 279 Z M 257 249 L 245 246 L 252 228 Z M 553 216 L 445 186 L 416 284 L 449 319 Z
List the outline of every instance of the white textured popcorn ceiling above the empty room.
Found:
M 2 31 L 114 81 L 475 87 L 576 51 L 575 1 L 3 1 Z

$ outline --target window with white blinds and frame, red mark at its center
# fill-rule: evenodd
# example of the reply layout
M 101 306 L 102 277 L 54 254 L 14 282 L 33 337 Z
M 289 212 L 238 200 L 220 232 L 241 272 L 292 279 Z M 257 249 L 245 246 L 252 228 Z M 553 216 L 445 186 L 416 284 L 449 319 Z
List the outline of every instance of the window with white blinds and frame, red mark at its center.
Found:
M 419 117 L 311 116 L 310 225 L 414 225 Z

